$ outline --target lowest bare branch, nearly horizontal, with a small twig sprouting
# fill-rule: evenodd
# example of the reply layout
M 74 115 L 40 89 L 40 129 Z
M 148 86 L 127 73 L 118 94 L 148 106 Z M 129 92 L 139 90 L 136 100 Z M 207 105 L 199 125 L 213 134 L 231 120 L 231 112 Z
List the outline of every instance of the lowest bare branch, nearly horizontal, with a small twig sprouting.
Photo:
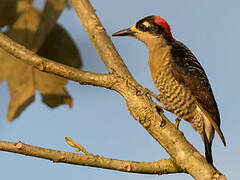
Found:
M 155 162 L 124 161 L 105 158 L 98 155 L 82 155 L 77 153 L 45 149 L 23 144 L 22 142 L 14 143 L 6 141 L 0 141 L 0 150 L 48 159 L 53 162 L 77 164 L 131 173 L 166 174 L 166 172 L 182 172 L 182 170 L 178 168 L 171 159 L 162 159 Z

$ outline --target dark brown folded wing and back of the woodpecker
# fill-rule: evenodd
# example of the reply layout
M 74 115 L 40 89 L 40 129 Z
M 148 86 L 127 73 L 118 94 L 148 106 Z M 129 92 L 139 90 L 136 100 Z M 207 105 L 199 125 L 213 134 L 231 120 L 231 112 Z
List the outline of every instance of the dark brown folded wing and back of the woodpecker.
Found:
M 171 54 L 174 60 L 174 63 L 172 63 L 172 73 L 174 77 L 179 83 L 190 89 L 203 112 L 209 117 L 223 144 L 226 145 L 225 138 L 220 129 L 218 107 L 204 69 L 193 53 L 183 43 L 175 41 L 171 45 Z

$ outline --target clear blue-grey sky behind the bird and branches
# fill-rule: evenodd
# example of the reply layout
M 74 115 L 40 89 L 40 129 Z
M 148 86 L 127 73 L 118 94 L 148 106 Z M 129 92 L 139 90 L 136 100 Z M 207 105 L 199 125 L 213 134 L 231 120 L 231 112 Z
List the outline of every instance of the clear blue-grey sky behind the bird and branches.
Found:
M 37 0 L 41 6 L 43 0 Z M 139 18 L 159 15 L 172 28 L 172 34 L 185 43 L 204 67 L 221 114 L 221 129 L 227 141 L 225 148 L 218 136 L 213 143 L 215 166 L 228 179 L 239 179 L 239 6 L 230 1 L 91 1 L 109 35 L 132 26 Z M 106 72 L 103 63 L 91 45 L 73 9 L 66 9 L 59 19 L 77 43 L 83 59 L 83 69 Z M 148 51 L 143 43 L 133 38 L 112 38 L 124 62 L 137 81 L 157 92 L 147 67 Z M 69 82 L 67 89 L 74 106 L 49 109 L 36 100 L 13 123 L 6 119 L 9 94 L 7 82 L 0 85 L 0 138 L 5 141 L 22 141 L 26 144 L 74 152 L 64 140 L 72 137 L 86 149 L 108 158 L 135 161 L 155 161 L 168 158 L 164 149 L 135 121 L 126 108 L 124 99 L 114 91 L 81 86 Z M 167 113 L 175 122 L 175 117 Z M 187 122 L 180 130 L 202 153 L 200 136 Z M 53 163 L 48 160 L 0 152 L 0 179 L 104 179 L 104 180 L 190 180 L 186 174 L 142 175 L 111 170 Z

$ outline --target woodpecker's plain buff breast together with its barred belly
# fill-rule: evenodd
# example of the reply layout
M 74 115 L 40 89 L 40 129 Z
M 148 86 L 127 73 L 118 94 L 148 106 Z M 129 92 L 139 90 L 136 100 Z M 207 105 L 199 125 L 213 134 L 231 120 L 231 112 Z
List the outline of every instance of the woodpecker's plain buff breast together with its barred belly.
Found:
M 160 53 L 159 53 L 160 52 Z M 196 109 L 194 97 L 188 88 L 174 77 L 169 51 L 149 53 L 149 67 L 153 82 L 159 91 L 161 103 L 166 105 L 179 118 L 190 121 Z

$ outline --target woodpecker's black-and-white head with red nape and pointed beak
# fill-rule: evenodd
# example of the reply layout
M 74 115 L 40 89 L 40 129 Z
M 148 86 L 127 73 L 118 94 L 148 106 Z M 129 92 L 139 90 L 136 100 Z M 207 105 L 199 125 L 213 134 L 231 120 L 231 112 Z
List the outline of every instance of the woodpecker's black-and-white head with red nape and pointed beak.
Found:
M 140 19 L 131 28 L 127 28 L 114 33 L 112 36 L 132 36 L 151 45 L 155 40 L 171 41 L 173 40 L 170 26 L 167 21 L 159 16 L 147 16 Z

